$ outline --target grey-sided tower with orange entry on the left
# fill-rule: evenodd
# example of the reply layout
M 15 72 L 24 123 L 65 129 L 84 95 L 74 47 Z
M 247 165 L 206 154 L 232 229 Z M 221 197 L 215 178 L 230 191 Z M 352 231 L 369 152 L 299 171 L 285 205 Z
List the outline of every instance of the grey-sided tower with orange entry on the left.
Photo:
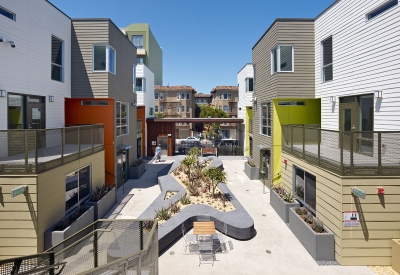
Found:
M 72 98 L 66 99 L 65 121 L 104 124 L 106 181 L 118 186 L 137 159 L 135 66 L 135 46 L 110 19 L 72 19 Z

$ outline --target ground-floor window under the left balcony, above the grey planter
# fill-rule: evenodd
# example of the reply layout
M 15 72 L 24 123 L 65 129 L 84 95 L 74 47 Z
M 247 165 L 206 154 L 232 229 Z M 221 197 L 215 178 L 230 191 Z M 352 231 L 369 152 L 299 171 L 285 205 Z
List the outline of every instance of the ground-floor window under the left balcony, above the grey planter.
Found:
M 65 175 L 65 210 L 70 212 L 91 194 L 90 166 Z

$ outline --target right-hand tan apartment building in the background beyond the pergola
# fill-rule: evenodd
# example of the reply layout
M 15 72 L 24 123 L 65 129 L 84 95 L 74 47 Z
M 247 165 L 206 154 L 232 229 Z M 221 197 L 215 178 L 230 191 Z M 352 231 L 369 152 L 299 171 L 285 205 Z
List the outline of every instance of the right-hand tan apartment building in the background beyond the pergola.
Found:
M 237 86 L 217 86 L 211 90 L 212 105 L 224 111 L 228 117 L 237 118 L 238 116 L 238 87 Z M 221 138 L 238 140 L 239 130 L 236 123 L 221 124 Z

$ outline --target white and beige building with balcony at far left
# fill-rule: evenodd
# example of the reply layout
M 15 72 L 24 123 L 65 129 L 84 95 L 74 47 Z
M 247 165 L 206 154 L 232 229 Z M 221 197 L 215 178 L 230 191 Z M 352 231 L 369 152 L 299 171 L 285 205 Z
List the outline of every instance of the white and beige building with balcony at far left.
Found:
M 104 184 L 104 127 L 65 127 L 64 99 L 71 97 L 67 15 L 45 0 L 1 0 L 0 41 L 4 259 L 42 252 L 44 232 Z

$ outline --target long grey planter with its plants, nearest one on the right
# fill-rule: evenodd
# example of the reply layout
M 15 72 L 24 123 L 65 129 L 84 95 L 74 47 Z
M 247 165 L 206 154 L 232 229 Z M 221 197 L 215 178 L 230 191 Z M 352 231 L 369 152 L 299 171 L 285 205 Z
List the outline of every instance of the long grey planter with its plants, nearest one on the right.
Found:
M 314 260 L 335 260 L 335 235 L 306 208 L 289 209 L 289 228 Z

